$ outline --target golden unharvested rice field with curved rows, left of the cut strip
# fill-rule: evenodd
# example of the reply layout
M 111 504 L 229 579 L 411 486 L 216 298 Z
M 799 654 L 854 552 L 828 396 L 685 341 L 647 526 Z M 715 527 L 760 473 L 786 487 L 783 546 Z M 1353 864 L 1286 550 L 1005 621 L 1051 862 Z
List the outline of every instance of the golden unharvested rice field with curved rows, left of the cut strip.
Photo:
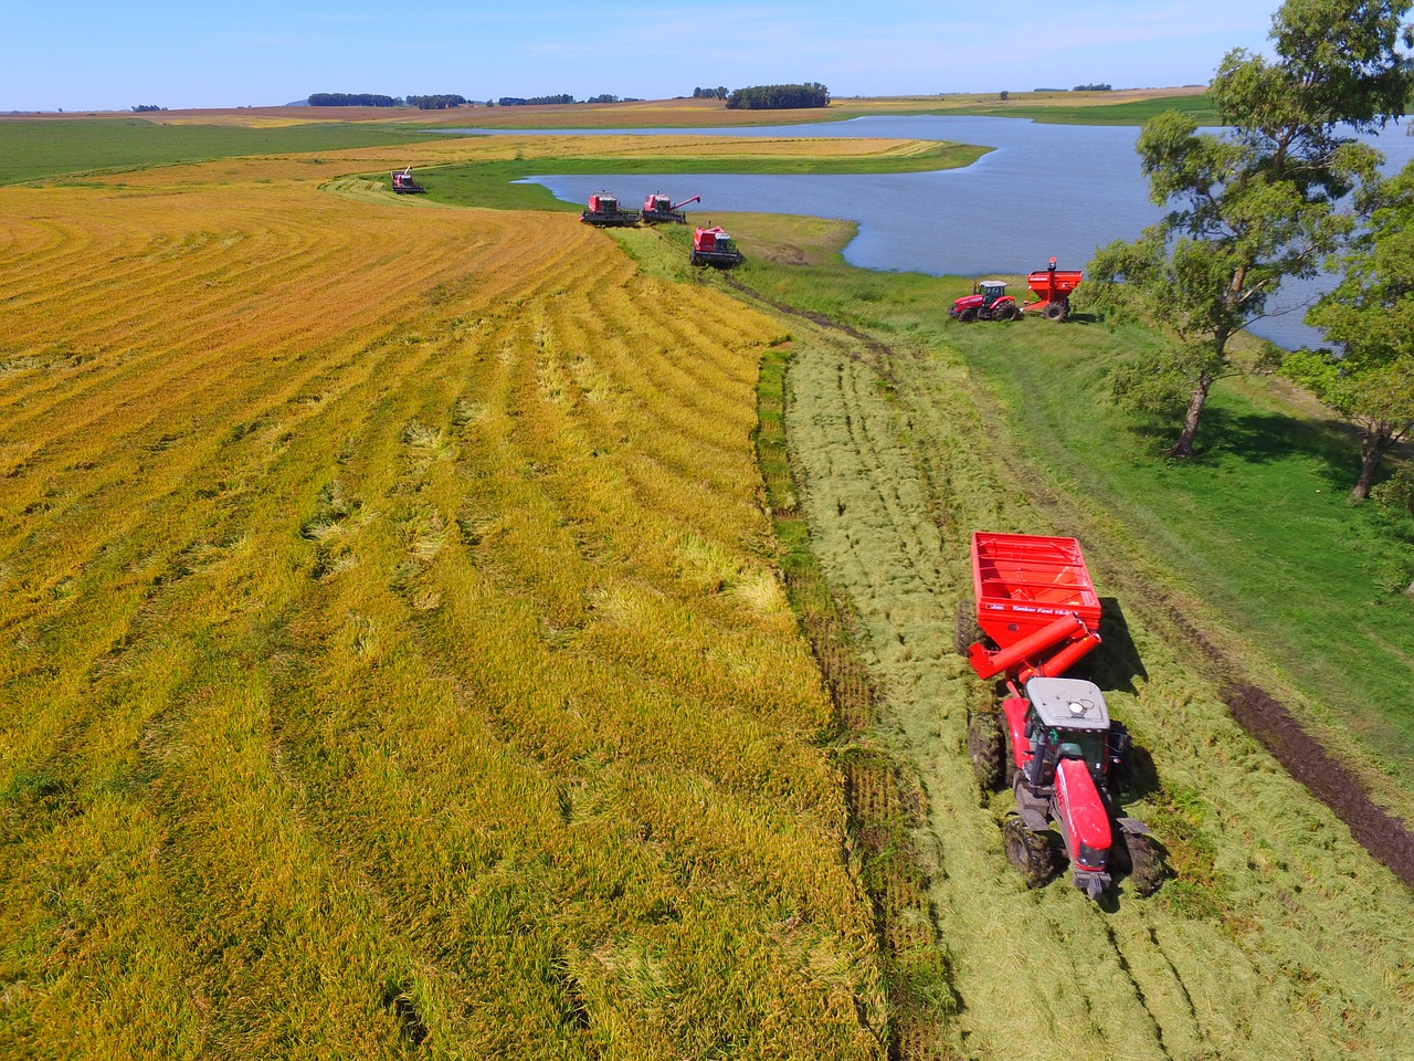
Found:
M 339 166 L 0 191 L 0 1054 L 881 1057 L 781 327 Z

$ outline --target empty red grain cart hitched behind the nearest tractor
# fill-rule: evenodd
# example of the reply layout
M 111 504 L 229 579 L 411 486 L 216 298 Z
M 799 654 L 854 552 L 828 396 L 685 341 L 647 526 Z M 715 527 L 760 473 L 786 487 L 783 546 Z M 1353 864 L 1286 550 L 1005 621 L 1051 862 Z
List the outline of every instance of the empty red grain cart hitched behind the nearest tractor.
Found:
M 976 618 L 963 601 L 957 634 L 978 678 L 1058 678 L 1100 644 L 1100 598 L 1076 539 L 977 532 L 971 559 Z

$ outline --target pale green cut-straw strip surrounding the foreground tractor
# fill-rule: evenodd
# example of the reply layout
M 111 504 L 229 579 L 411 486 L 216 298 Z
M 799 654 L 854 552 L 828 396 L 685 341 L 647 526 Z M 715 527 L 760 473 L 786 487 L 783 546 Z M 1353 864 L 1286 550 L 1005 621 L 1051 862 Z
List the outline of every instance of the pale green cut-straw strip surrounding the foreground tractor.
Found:
M 1414 996 L 1408 893 L 1133 617 L 1141 669 L 1111 661 L 1103 683 L 1154 755 L 1162 788 L 1131 806 L 1179 877 L 1113 911 L 1065 881 L 1022 886 L 997 828 L 1008 798 L 978 796 L 966 754 L 969 712 L 991 692 L 953 651 L 953 608 L 970 594 L 970 530 L 1068 529 L 987 453 L 946 352 L 884 358 L 800 318 L 792 330 L 788 433 L 822 563 L 868 635 L 891 744 L 928 792 L 957 1041 L 1035 1058 L 1397 1053 Z

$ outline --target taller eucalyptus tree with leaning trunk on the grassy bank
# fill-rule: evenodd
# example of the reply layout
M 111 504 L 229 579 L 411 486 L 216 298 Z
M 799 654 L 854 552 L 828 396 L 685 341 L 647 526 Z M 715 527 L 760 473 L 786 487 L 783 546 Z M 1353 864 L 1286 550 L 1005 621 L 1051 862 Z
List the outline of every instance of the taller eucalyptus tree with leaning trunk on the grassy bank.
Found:
M 1171 338 L 1116 373 L 1127 403 L 1182 410 L 1189 457 L 1209 390 L 1233 371 L 1230 341 L 1282 280 L 1309 277 L 1353 229 L 1342 207 L 1380 154 L 1355 134 L 1404 113 L 1414 47 L 1410 0 L 1287 0 L 1273 16 L 1274 59 L 1227 54 L 1209 98 L 1226 127 L 1199 132 L 1175 110 L 1138 139 L 1150 198 L 1167 207 L 1138 240 L 1090 262 L 1092 303 L 1137 311 Z

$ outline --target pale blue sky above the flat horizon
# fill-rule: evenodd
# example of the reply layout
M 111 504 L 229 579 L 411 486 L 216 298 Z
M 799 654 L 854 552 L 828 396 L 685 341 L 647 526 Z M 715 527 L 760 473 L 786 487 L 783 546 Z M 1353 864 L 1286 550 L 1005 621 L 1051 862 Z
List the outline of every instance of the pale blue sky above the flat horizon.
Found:
M 276 106 L 310 92 L 663 99 L 819 81 L 836 96 L 1203 83 L 1278 0 L 247 0 L 16 3 L 0 110 Z M 1034 17 L 1035 11 L 1046 11 Z M 52 14 L 49 14 L 52 13 Z

